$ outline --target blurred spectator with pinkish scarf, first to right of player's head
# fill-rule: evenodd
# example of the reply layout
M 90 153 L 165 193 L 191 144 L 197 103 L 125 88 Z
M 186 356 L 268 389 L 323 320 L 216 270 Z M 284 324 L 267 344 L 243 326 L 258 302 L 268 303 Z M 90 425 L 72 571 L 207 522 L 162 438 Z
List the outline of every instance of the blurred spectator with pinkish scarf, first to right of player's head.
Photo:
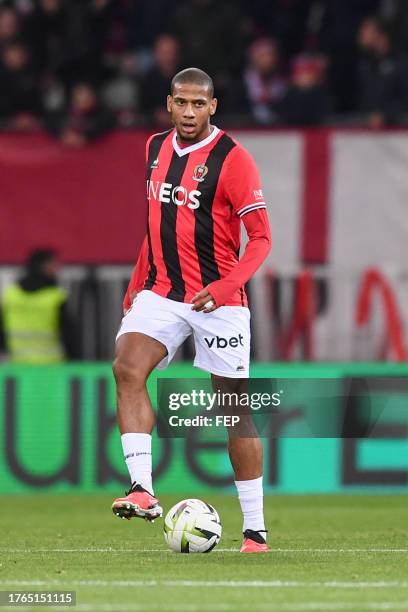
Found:
M 262 38 L 251 45 L 244 82 L 254 119 L 262 124 L 274 123 L 286 80 L 280 72 L 279 52 L 273 40 Z

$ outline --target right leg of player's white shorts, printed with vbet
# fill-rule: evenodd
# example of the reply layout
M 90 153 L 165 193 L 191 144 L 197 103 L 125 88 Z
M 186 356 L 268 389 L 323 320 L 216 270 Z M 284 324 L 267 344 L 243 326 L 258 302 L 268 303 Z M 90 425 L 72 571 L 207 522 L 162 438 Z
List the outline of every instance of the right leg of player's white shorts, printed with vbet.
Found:
M 240 306 L 221 306 L 213 312 L 193 312 L 196 357 L 194 365 L 226 378 L 249 376 L 250 313 Z

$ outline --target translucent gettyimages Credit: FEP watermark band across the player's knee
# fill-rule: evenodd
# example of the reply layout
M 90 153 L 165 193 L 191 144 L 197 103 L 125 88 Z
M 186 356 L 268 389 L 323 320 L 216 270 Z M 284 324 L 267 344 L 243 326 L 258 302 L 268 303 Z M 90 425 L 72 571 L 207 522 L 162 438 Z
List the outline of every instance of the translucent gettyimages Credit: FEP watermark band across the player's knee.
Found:
M 407 377 L 252 378 L 229 389 L 160 378 L 157 391 L 161 438 L 408 436 Z

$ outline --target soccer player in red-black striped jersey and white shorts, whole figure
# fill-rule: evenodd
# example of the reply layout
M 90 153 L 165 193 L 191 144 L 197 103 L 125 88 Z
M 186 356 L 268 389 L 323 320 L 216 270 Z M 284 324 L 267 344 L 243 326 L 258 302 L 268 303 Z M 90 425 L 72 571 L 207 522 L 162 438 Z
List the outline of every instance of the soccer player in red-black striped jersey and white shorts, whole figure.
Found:
M 211 124 L 212 79 L 197 68 L 175 75 L 167 98 L 174 129 L 147 141 L 147 235 L 124 300 L 113 371 L 118 424 L 131 488 L 113 502 L 121 517 L 154 520 L 155 417 L 146 381 L 193 334 L 194 365 L 214 389 L 244 392 L 250 330 L 245 283 L 271 247 L 266 205 L 251 155 Z M 240 225 L 248 234 L 239 259 Z M 220 341 L 223 338 L 225 341 Z M 243 513 L 241 552 L 266 552 L 262 444 L 230 436 L 229 456 Z

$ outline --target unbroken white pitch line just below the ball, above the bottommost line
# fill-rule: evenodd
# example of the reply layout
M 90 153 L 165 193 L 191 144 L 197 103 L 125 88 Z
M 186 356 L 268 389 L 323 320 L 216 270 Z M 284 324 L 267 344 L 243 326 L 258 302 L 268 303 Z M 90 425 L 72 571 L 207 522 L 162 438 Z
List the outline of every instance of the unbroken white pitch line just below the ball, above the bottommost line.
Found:
M 92 586 L 92 587 L 212 587 L 212 588 L 329 588 L 329 589 L 408 589 L 408 581 L 296 581 L 296 580 L 0 580 L 0 585 L 13 586 Z

